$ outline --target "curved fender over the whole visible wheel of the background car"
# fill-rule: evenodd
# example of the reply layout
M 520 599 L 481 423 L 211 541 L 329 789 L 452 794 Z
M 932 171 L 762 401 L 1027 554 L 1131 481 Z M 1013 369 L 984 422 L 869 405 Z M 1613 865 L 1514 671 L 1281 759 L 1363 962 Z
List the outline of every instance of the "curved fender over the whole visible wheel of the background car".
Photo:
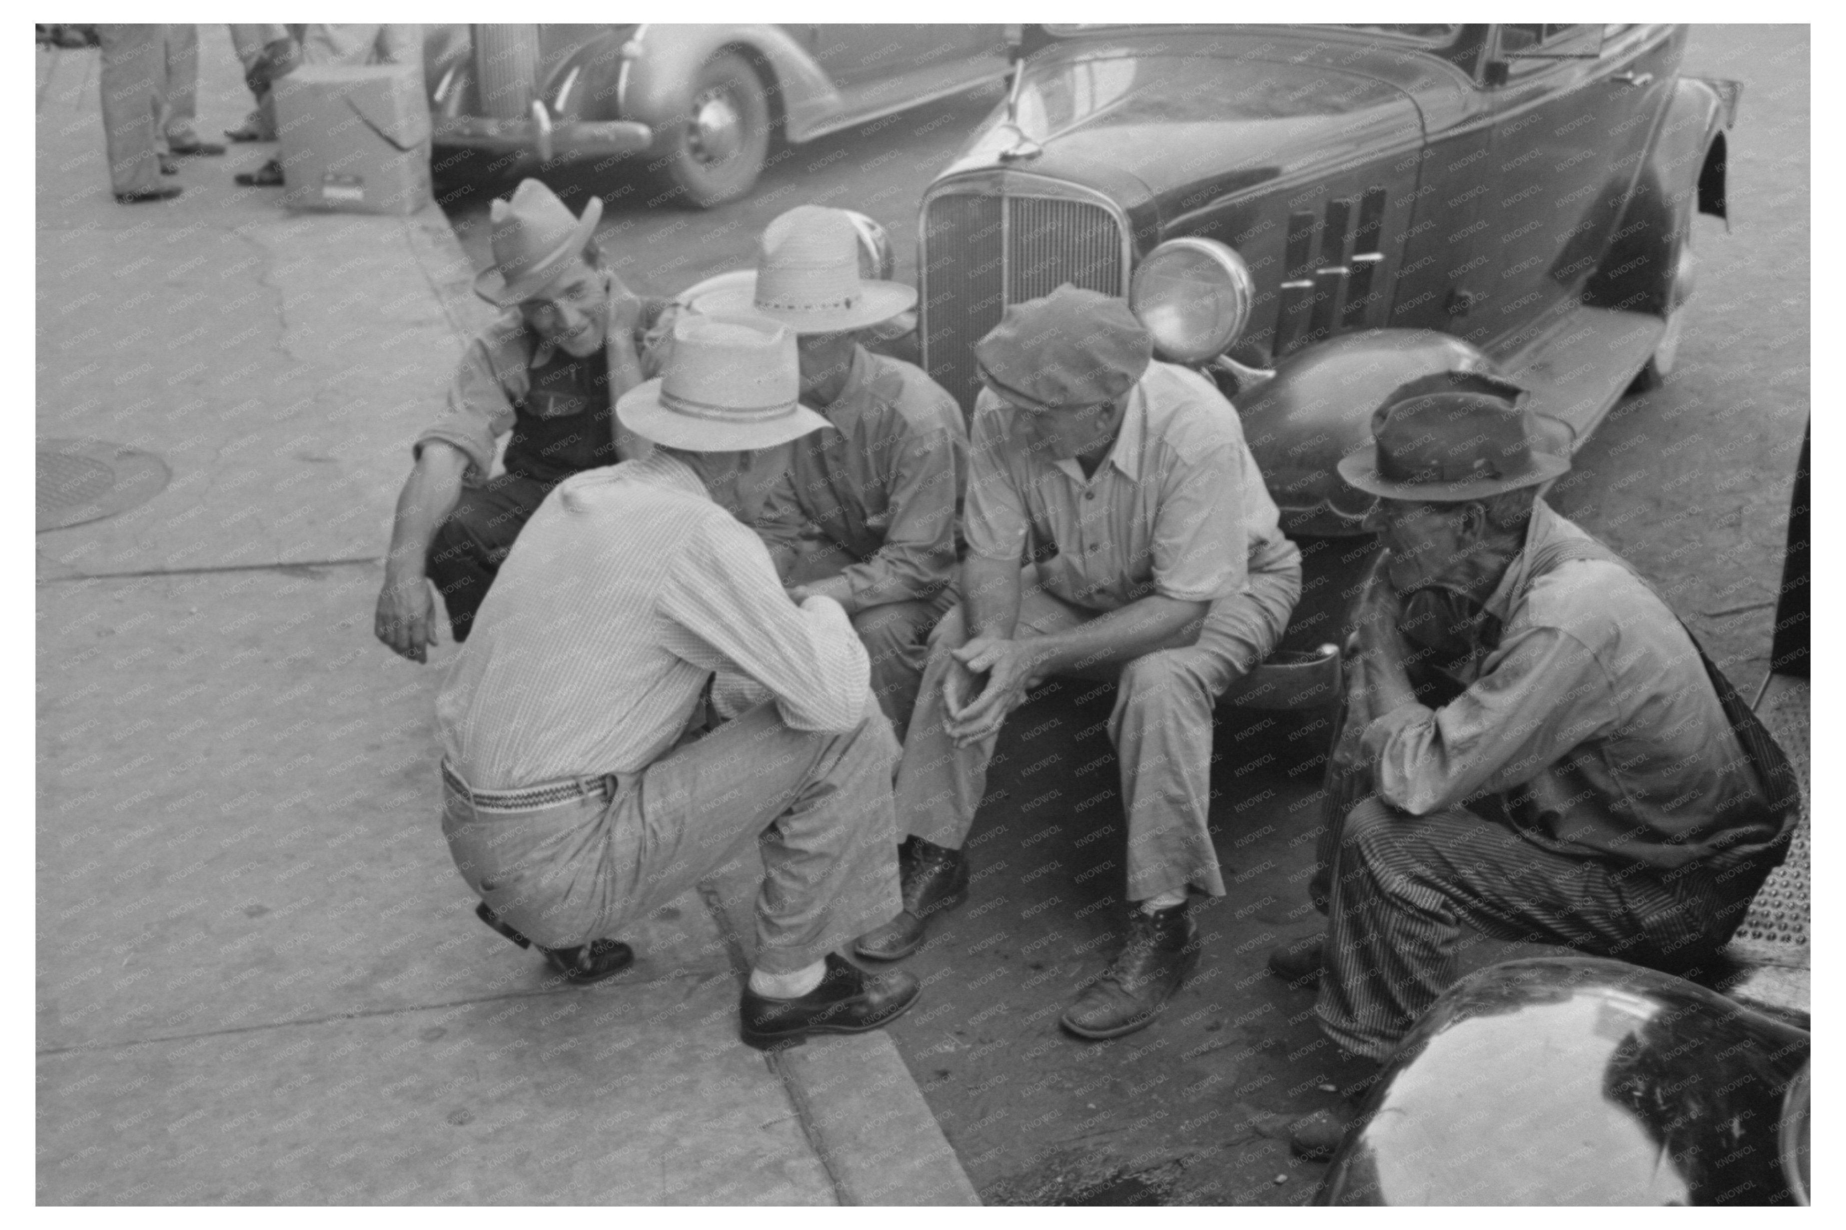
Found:
M 633 41 L 637 54 L 628 65 L 620 118 L 653 126 L 657 144 L 659 133 L 687 113 L 692 74 L 725 48 L 749 55 L 764 78 L 762 89 L 783 135 L 792 142 L 805 140 L 844 105 L 833 79 L 807 48 L 777 26 L 648 24 L 635 31 Z

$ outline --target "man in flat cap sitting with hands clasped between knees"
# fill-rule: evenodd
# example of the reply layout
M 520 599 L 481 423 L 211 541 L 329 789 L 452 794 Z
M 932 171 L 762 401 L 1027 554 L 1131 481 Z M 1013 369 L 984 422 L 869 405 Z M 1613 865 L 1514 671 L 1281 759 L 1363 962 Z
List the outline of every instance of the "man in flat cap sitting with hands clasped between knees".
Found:
M 1052 676 L 1117 685 L 1109 737 L 1128 811 L 1121 947 L 1061 1023 L 1148 1025 L 1198 962 L 1187 894 L 1224 894 L 1207 829 L 1211 713 L 1281 639 L 1301 556 L 1237 412 L 1152 362 L 1121 299 L 1060 286 L 975 347 L 962 606 L 930 635 L 897 772 L 905 909 L 860 938 L 897 959 L 969 885 L 962 853 L 1006 715 Z

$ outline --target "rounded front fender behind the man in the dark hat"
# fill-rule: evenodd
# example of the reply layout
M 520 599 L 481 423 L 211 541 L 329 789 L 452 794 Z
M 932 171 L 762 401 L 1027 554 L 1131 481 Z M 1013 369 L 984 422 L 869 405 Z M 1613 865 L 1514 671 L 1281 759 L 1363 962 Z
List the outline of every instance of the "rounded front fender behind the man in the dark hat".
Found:
M 1372 497 L 1337 465 L 1372 440 L 1372 416 L 1397 386 L 1438 371 L 1493 371 L 1493 362 L 1445 332 L 1366 329 L 1289 355 L 1233 399 L 1289 534 L 1366 532 Z

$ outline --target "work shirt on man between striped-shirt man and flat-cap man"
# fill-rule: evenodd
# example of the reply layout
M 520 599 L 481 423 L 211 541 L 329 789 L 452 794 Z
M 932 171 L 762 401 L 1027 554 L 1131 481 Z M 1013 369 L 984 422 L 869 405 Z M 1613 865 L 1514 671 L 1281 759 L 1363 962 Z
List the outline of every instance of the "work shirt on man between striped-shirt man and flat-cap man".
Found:
M 919 368 L 857 347 L 845 386 L 821 406 L 838 430 L 790 445 L 757 532 L 786 576 L 801 537 L 857 558 L 840 571 L 847 611 L 929 598 L 954 580 L 954 517 L 967 480 L 967 427 Z

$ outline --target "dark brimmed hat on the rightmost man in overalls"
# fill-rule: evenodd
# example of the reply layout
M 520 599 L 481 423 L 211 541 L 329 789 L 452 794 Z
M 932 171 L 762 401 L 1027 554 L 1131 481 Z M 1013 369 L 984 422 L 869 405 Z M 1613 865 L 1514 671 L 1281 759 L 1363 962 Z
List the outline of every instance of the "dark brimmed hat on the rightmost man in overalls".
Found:
M 1525 401 L 1525 388 L 1486 373 L 1420 377 L 1384 399 L 1373 441 L 1340 458 L 1340 478 L 1370 495 L 1432 504 L 1549 482 L 1571 469 L 1567 428 Z

